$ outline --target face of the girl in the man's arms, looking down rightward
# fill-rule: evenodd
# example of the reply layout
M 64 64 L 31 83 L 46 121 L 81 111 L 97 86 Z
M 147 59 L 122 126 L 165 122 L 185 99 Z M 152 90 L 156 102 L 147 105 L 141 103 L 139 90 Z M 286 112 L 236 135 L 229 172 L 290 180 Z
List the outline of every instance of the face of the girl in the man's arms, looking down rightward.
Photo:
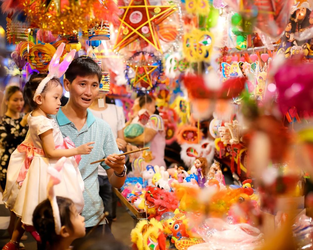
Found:
M 63 88 L 60 84 L 50 88 L 45 93 L 45 96 L 41 97 L 42 103 L 39 105 L 40 109 L 50 115 L 58 113 L 61 106 L 60 98 L 62 97 L 62 93 Z

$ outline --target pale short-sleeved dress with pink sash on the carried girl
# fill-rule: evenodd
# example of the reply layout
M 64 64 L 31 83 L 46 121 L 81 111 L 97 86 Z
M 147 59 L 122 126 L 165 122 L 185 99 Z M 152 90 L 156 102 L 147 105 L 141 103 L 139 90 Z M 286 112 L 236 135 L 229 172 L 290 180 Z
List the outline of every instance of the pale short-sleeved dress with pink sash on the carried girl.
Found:
M 40 134 L 52 129 L 56 148 L 73 148 L 69 138 L 63 138 L 54 119 L 44 116 L 31 116 L 28 119 L 29 131 L 26 139 L 12 153 L 8 165 L 7 183 L 3 192 L 3 202 L 22 222 L 33 225 L 35 207 L 47 199 L 47 168 L 57 162 L 44 155 Z M 76 161 L 77 160 L 77 161 Z M 79 158 L 69 157 L 61 170 L 61 182 L 54 186 L 57 196 L 70 198 L 81 212 L 84 207 L 84 181 L 78 169 Z

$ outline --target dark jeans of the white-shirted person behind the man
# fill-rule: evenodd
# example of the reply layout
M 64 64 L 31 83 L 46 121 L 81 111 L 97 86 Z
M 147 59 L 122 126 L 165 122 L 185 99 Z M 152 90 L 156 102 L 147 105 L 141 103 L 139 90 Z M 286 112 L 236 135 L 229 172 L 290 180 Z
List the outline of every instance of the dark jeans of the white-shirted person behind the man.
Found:
M 99 180 L 99 195 L 103 201 L 104 211 L 109 212 L 109 215 L 106 216 L 108 221 L 112 221 L 113 217 L 113 209 L 112 209 L 112 186 L 109 182 L 109 178 L 107 176 L 98 175 Z

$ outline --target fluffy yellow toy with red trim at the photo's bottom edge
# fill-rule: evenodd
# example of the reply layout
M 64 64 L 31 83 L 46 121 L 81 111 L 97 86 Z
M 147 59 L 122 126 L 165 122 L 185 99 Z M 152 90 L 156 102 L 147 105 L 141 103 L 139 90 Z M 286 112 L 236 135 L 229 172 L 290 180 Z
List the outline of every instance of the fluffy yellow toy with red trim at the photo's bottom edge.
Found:
M 131 230 L 131 242 L 135 250 L 166 250 L 166 238 L 161 222 L 151 218 L 150 221 L 141 220 Z

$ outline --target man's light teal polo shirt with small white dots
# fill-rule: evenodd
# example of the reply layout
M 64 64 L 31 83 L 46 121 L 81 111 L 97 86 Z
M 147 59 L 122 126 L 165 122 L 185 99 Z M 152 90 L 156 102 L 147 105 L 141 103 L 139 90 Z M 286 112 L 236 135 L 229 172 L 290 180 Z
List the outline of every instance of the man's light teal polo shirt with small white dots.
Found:
M 64 137 L 69 137 L 77 146 L 88 142 L 95 142 L 90 154 L 82 155 L 78 165 L 81 176 L 85 183 L 84 200 L 85 207 L 82 216 L 85 217 L 85 227 L 95 226 L 104 207 L 99 195 L 98 164 L 90 165 L 91 162 L 100 160 L 110 154 L 119 154 L 116 141 L 108 123 L 94 117 L 87 109 L 87 120 L 83 128 L 78 131 L 74 125 L 62 112 L 62 108 L 54 116 L 59 124 Z M 101 163 L 104 169 L 110 168 L 104 162 Z M 104 224 L 103 222 L 102 224 Z

